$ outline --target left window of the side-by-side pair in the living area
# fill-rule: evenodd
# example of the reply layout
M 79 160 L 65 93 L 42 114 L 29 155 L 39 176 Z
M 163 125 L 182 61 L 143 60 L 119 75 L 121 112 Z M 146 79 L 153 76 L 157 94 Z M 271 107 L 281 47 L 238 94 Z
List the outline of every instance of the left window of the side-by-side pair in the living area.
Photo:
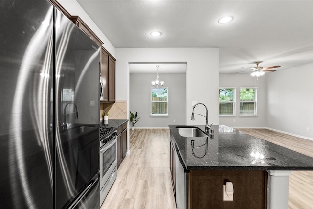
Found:
M 235 116 L 236 89 L 221 87 L 219 91 L 219 116 Z

